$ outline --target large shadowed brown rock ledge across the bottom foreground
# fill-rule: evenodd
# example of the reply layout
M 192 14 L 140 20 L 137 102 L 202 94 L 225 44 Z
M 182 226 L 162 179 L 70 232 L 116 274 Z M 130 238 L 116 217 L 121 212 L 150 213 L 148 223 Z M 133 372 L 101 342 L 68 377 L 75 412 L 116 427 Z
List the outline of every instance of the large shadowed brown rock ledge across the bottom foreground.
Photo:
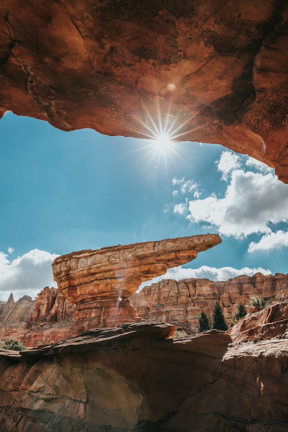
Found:
M 288 340 L 173 331 L 123 324 L 1 351 L 0 432 L 286 432 Z

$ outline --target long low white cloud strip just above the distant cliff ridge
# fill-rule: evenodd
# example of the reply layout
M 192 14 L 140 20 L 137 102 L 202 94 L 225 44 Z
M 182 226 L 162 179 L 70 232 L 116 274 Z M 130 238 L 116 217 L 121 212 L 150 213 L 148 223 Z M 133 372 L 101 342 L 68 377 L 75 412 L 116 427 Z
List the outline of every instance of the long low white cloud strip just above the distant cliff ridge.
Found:
M 155 277 L 154 279 L 150 280 L 149 282 L 143 282 L 140 286 L 139 290 L 142 289 L 146 285 L 151 285 L 152 283 L 159 282 L 162 279 L 175 279 L 175 280 L 181 280 L 181 279 L 189 279 L 189 278 L 196 278 L 196 279 L 203 279 L 207 278 L 210 280 L 228 280 L 230 278 L 241 276 L 241 275 L 247 275 L 247 276 L 253 276 L 255 273 L 262 273 L 264 275 L 271 274 L 270 270 L 263 269 L 262 267 L 243 267 L 240 270 L 235 269 L 233 267 L 209 267 L 209 266 L 202 266 L 198 269 L 185 269 L 182 266 L 180 267 L 174 267 L 167 270 L 167 273 L 163 276 Z

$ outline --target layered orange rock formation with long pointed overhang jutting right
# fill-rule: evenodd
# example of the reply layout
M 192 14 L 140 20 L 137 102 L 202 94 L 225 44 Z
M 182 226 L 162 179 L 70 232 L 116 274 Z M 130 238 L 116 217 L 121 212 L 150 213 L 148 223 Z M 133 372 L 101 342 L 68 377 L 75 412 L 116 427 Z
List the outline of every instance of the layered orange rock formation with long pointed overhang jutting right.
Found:
M 142 321 L 127 300 L 141 283 L 219 243 L 218 234 L 207 234 L 72 252 L 54 260 L 54 280 L 76 304 L 76 325 L 82 330 Z

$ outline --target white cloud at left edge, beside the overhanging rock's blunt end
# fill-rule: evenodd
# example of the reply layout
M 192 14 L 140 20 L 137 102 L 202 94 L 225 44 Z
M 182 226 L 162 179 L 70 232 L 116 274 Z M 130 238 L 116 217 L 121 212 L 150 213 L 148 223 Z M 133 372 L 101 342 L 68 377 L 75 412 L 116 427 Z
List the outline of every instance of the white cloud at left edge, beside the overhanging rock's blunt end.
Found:
M 16 300 L 22 295 L 35 297 L 44 286 L 55 286 L 51 264 L 57 254 L 33 249 L 27 254 L 9 261 L 0 252 L 0 300 L 6 300 L 13 292 Z

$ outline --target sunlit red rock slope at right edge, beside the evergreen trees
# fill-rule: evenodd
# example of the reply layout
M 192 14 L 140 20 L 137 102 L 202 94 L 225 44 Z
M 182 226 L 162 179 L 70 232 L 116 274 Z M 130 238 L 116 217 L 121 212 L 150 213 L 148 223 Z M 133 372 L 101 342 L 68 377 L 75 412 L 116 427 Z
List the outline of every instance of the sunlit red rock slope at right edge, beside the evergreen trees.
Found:
M 230 330 L 233 340 L 271 339 L 283 336 L 288 338 L 288 295 L 269 307 L 248 314 Z

